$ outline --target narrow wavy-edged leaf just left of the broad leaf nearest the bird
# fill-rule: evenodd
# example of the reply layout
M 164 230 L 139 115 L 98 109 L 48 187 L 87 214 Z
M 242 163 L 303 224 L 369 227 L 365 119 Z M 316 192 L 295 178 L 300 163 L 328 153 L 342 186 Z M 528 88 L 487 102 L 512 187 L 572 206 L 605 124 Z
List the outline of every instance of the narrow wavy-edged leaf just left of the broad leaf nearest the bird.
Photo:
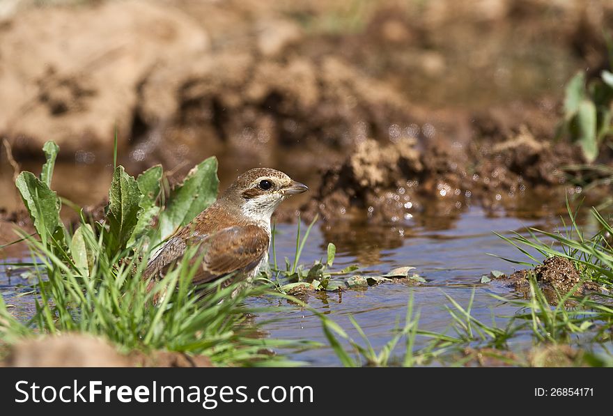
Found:
M 137 226 L 134 227 L 134 232 L 127 241 L 127 247 L 132 246 L 136 240 L 150 230 L 150 224 L 153 217 L 160 213 L 160 207 L 155 204 L 155 201 L 157 201 L 157 197 L 160 196 L 161 180 L 162 166 L 159 164 L 150 167 L 137 178 L 139 190 L 143 195 L 139 202 L 139 206 L 142 210 L 139 215 Z

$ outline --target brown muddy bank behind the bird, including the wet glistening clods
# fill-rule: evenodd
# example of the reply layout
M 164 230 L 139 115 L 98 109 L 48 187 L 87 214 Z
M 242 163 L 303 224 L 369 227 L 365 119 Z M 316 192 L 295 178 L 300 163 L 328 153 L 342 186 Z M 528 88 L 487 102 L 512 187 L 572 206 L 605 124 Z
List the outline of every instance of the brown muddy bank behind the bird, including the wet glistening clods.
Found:
M 582 158 L 552 143 L 559 86 L 606 65 L 596 28 L 613 22 L 605 1 L 24 4 L 0 26 L 0 135 L 18 160 L 53 139 L 104 166 L 117 129 L 134 172 L 180 178 L 213 154 L 320 171 L 307 217 L 392 223 L 517 209 L 564 183 Z

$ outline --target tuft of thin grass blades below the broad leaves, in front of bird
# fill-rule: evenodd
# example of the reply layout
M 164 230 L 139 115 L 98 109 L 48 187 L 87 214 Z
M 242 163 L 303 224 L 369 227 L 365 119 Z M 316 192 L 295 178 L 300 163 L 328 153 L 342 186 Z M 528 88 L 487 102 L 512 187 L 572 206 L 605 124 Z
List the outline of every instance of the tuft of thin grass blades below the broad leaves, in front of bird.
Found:
M 42 242 L 26 238 L 36 276 L 36 313 L 22 323 L 10 316 L 0 300 L 0 333 L 3 339 L 18 341 L 35 334 L 79 332 L 102 336 L 120 350 L 150 352 L 181 351 L 210 357 L 218 365 L 254 364 L 266 360 L 282 363 L 277 357 L 258 353 L 273 348 L 274 341 L 256 339 L 256 328 L 245 323 L 248 309 L 243 301 L 262 293 L 261 288 L 245 289 L 232 297 L 237 284 L 213 287 L 213 293 L 199 296 L 191 284 L 198 265 L 189 265 L 195 250 L 189 252 L 152 291 L 141 274 L 146 262 L 132 258 L 113 263 L 95 240 L 85 236 L 95 250 L 91 273 L 64 263 Z M 164 293 L 160 305 L 153 295 Z

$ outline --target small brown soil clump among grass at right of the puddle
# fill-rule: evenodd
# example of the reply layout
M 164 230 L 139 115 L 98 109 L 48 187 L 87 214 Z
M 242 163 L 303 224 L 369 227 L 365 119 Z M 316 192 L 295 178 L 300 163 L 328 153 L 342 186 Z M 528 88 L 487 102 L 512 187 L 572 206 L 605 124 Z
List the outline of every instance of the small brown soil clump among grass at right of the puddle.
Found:
M 559 296 L 564 296 L 573 290 L 576 284 L 581 281 L 581 275 L 573 263 L 565 257 L 553 256 L 542 265 L 536 266 L 534 270 L 518 270 L 512 275 L 501 275 L 493 279 L 504 283 L 505 286 L 513 288 L 523 293 L 525 297 L 530 295 L 529 278 L 534 275 L 538 286 L 541 288 L 545 297 L 553 305 L 557 305 Z M 578 286 L 575 295 L 582 295 L 587 291 L 597 291 L 598 285 L 593 282 L 584 282 Z M 557 295 L 559 293 L 559 296 Z

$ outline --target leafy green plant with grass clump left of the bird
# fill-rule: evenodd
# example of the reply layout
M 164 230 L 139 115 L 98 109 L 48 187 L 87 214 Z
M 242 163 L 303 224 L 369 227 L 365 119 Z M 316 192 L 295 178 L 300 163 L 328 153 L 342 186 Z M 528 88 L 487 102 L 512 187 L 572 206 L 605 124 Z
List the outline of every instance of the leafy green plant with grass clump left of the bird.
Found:
M 19 321 L 0 298 L 3 341 L 79 332 L 104 337 L 125 353 L 180 351 L 206 355 L 217 365 L 297 364 L 261 351 L 309 343 L 262 339 L 256 336 L 260 325 L 247 321 L 258 311 L 247 309 L 244 300 L 267 293 L 267 286 L 222 288 L 217 282 L 205 288 L 207 295 L 196 293 L 200 288 L 191 282 L 200 262 L 191 265 L 190 260 L 197 247 L 147 290 L 150 282 L 143 279 L 143 270 L 155 247 L 215 200 L 215 158 L 194 167 L 169 199 L 162 195 L 161 167 L 135 179 L 117 166 L 104 221 L 91 222 L 77 210 L 77 225 L 65 226 L 59 217 L 62 200 L 51 190 L 59 148 L 49 142 L 44 150 L 47 162 L 40 177 L 22 172 L 17 179 L 36 228 L 34 235 L 20 235 L 31 257 L 20 267 L 29 268 L 36 281 L 36 311 L 29 321 Z M 199 197 L 194 199 L 194 194 Z M 162 226 L 152 229 L 149 222 L 156 215 Z M 154 305 L 156 294 L 162 300 Z

